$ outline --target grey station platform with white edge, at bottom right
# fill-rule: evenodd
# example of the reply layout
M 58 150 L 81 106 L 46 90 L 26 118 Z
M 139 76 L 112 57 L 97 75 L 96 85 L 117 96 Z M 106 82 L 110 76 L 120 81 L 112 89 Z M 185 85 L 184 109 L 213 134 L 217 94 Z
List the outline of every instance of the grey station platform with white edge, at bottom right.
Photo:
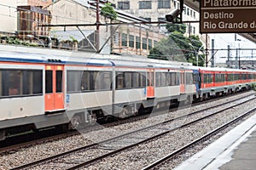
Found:
M 224 134 L 175 170 L 254 170 L 256 168 L 256 114 Z

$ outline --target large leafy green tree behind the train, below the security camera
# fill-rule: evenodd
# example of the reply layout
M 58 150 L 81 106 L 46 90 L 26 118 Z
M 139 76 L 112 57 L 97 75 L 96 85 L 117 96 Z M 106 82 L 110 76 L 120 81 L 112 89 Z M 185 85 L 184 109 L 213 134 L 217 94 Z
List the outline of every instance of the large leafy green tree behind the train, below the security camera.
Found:
M 148 58 L 191 62 L 196 65 L 198 57 L 198 65 L 204 65 L 203 57 L 198 51 L 203 50 L 198 36 L 185 37 L 183 35 L 186 31 L 185 25 L 168 24 L 166 29 L 171 33 L 154 45 L 149 51 Z

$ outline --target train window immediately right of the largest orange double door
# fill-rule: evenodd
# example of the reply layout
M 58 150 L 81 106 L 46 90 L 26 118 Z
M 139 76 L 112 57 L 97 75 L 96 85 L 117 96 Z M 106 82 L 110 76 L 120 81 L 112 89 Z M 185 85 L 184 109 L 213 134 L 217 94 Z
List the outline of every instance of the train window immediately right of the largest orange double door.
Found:
M 67 71 L 67 92 L 79 92 L 81 90 L 82 71 Z

